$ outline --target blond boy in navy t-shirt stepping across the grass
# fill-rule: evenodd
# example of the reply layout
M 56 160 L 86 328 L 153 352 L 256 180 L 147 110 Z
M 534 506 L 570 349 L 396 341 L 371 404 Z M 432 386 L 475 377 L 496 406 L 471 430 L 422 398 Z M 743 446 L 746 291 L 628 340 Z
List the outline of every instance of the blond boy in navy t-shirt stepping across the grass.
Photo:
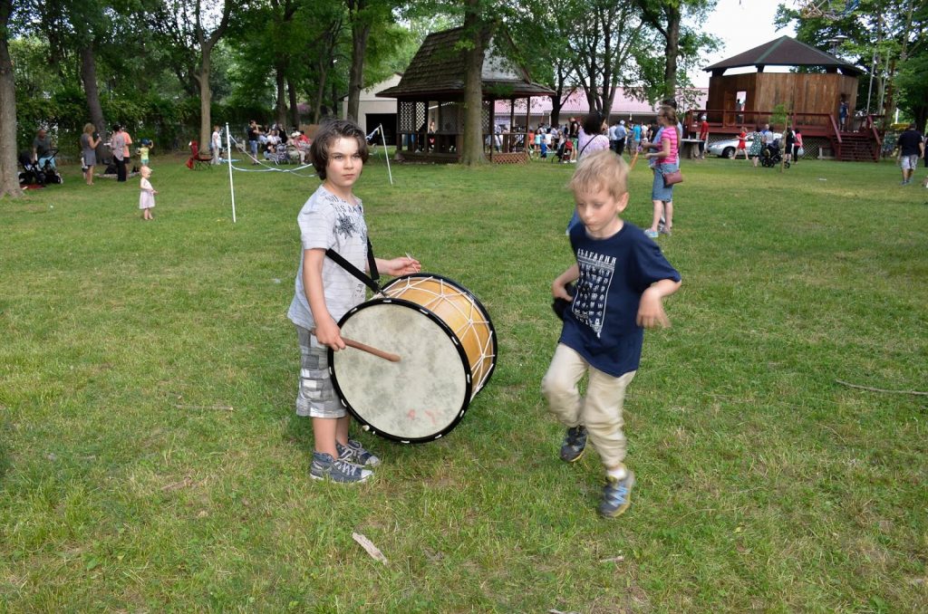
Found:
M 570 187 L 582 224 L 570 230 L 576 262 L 551 284 L 570 301 L 561 339 L 542 380 L 550 411 L 566 426 L 561 459 L 574 462 L 586 438 L 606 467 L 599 513 L 628 508 L 635 474 L 625 467 L 622 405 L 635 377 L 644 328 L 669 326 L 664 297 L 680 287 L 680 274 L 657 244 L 619 214 L 628 205 L 628 165 L 612 151 L 597 151 L 578 165 Z M 574 296 L 566 286 L 577 281 Z M 586 397 L 577 383 L 588 374 Z

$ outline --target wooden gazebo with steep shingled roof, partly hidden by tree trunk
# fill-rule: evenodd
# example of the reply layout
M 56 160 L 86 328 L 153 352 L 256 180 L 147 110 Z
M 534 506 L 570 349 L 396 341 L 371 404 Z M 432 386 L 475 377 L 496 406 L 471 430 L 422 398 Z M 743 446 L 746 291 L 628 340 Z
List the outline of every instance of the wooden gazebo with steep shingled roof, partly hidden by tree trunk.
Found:
M 466 51 L 463 28 L 429 34 L 400 83 L 378 92 L 396 98 L 396 154 L 408 161 L 458 162 L 464 132 L 464 74 Z M 533 83 L 528 72 L 502 52 L 512 47 L 505 33 L 487 45 L 483 60 L 483 142 L 494 162 L 528 161 L 525 133 L 515 132 L 511 112 L 505 134 L 493 125 L 496 100 L 551 96 L 553 90 Z M 531 100 L 529 100 L 531 102 Z M 530 109 L 531 104 L 526 105 Z M 527 119 L 526 119 L 527 125 Z M 433 126 L 434 130 L 431 130 Z

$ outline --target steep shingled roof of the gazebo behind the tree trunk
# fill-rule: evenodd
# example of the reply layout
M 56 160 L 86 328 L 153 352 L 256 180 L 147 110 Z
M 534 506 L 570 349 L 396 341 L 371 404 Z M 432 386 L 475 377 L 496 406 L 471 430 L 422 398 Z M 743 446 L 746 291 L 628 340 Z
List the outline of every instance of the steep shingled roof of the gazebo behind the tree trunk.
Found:
M 378 92 L 384 98 L 449 97 L 464 95 L 464 74 L 467 51 L 458 42 L 463 28 L 429 34 L 416 56 L 403 73 L 398 85 Z M 483 59 L 483 96 L 496 98 L 524 98 L 551 96 L 554 91 L 540 83 L 533 83 L 528 72 L 515 62 L 503 57 L 496 45 L 508 42 L 505 34 L 497 36 L 487 45 Z

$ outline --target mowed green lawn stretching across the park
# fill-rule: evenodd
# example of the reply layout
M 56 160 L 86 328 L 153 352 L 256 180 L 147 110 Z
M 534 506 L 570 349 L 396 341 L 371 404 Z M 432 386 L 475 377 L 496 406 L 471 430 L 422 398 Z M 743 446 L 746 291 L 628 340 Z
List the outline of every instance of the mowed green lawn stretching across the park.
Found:
M 659 239 L 683 287 L 626 399 L 615 520 L 539 392 L 572 166 L 390 185 L 371 160 L 374 248 L 470 288 L 499 356 L 440 441 L 359 433 L 384 464 L 344 488 L 309 479 L 293 411 L 318 180 L 236 173 L 232 224 L 226 168 L 182 163 L 153 160 L 153 222 L 137 179 L 73 166 L 0 201 L 0 611 L 924 611 L 928 190 L 891 163 L 684 164 Z M 634 224 L 650 186 L 638 164 Z

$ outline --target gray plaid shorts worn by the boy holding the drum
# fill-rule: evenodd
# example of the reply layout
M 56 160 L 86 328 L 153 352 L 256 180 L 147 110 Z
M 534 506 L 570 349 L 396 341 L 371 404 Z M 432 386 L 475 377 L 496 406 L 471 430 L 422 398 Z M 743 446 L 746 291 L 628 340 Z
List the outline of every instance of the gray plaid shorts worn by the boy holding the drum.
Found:
M 300 387 L 296 395 L 297 416 L 341 418 L 346 416 L 342 401 L 329 378 L 329 348 L 319 343 L 315 335 L 296 327 L 300 345 Z

